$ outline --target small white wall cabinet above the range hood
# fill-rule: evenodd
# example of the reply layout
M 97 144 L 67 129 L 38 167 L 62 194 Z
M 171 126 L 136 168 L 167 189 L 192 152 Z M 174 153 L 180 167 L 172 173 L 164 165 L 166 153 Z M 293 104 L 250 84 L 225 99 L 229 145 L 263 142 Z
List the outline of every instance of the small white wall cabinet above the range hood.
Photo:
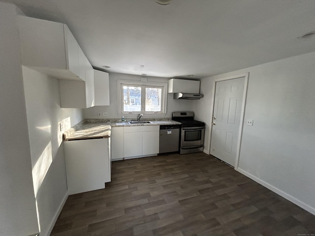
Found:
M 168 81 L 168 92 L 199 93 L 200 81 L 170 79 Z

